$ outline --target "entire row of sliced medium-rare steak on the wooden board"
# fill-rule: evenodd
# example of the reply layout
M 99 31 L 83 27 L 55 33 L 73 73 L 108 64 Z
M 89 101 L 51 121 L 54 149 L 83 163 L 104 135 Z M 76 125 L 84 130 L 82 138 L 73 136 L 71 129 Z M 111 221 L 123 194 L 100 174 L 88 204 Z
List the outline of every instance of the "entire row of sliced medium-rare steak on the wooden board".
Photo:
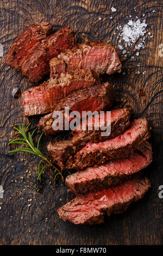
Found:
M 51 24 L 44 22 L 25 29 L 7 53 L 6 63 L 31 83 L 50 73 L 47 82 L 22 93 L 25 115 L 46 114 L 38 124 L 46 135 L 61 132 L 53 129 L 58 111 L 69 124 L 73 112 L 100 112 L 114 103 L 111 84 L 103 83 L 99 74 L 121 72 L 116 49 L 105 42 L 76 42 L 70 27 L 53 33 Z M 149 189 L 149 180 L 140 174 L 152 162 L 147 120 L 130 121 L 130 114 L 128 108 L 117 108 L 111 110 L 110 122 L 106 112 L 89 117 L 71 131 L 69 140 L 48 144 L 55 164 L 77 171 L 66 178 L 77 197 L 58 209 L 62 220 L 102 223 L 105 212 L 123 212 Z M 109 131 L 110 125 L 111 132 L 103 136 L 103 128 Z

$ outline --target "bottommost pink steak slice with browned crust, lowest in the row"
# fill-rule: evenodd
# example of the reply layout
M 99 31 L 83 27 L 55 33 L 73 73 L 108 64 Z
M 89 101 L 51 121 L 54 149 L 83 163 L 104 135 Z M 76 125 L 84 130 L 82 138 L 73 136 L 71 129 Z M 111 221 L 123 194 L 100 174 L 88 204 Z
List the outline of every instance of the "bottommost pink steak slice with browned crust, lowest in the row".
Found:
M 130 203 L 141 199 L 151 184 L 146 177 L 136 176 L 119 185 L 79 196 L 58 209 L 60 218 L 74 224 L 99 224 L 104 213 L 121 214 Z

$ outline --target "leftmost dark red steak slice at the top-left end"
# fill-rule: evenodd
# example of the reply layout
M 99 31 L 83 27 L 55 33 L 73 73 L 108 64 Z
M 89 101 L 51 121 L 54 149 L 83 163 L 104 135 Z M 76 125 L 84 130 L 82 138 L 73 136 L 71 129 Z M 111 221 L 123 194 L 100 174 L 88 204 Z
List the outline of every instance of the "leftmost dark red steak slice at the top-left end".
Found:
M 27 56 L 51 33 L 52 26 L 49 22 L 28 26 L 10 46 L 5 63 L 12 69 L 20 70 Z

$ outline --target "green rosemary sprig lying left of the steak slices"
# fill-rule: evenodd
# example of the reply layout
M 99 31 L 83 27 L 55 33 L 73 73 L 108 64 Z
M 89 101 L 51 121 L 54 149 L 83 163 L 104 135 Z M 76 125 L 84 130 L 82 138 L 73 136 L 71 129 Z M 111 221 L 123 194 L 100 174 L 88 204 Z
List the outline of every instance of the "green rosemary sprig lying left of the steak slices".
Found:
M 31 123 L 26 127 L 26 129 L 24 128 L 24 125 L 21 126 L 20 123 L 18 123 L 18 128 L 14 127 L 14 129 L 16 129 L 16 131 L 17 131 L 16 135 L 21 135 L 22 138 L 13 139 L 12 141 L 9 142 L 8 145 L 21 144 L 21 145 L 26 145 L 27 147 L 14 149 L 14 150 L 9 151 L 8 153 L 16 153 L 18 151 L 22 151 L 22 152 L 30 153 L 30 154 L 41 157 L 41 161 L 38 166 L 38 177 L 37 177 L 37 180 L 39 180 L 40 182 L 41 182 L 41 174 L 42 174 L 43 170 L 46 169 L 47 167 L 52 167 L 54 169 L 54 175 L 55 175 L 54 182 L 55 182 L 57 175 L 61 175 L 61 178 L 64 181 L 64 177 L 62 175 L 61 170 L 59 170 L 59 168 L 57 166 L 55 166 L 51 162 L 51 160 L 48 160 L 47 157 L 44 156 L 41 153 L 41 151 L 39 150 L 39 143 L 40 143 L 40 140 L 41 140 L 44 132 L 41 133 L 41 135 L 38 139 L 38 142 L 37 142 L 37 147 L 35 147 L 34 142 L 33 142 L 33 135 L 34 135 L 35 131 L 37 130 L 37 128 L 31 134 L 28 131 L 30 125 L 31 125 Z M 43 162 L 46 162 L 46 164 L 43 165 L 42 164 Z M 65 169 L 65 171 L 68 172 L 66 169 Z

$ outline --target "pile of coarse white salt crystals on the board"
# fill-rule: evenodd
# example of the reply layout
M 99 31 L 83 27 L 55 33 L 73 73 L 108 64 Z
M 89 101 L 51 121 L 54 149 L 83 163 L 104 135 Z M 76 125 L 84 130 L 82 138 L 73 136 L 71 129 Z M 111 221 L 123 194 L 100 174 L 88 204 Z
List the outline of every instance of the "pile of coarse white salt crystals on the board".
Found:
M 124 25 L 123 28 L 122 26 L 119 26 L 118 29 L 122 29 L 120 36 L 122 36 L 122 39 L 126 42 L 125 46 L 127 47 L 127 45 L 133 45 L 133 43 L 140 38 L 141 42 L 139 43 L 139 45 L 135 45 L 135 48 L 137 50 L 139 50 L 141 47 L 143 48 L 146 39 L 144 35 L 147 33 L 146 27 L 146 20 L 143 20 L 141 22 L 139 19 L 137 19 L 136 21 L 129 20 L 129 22 Z M 151 35 L 151 33 L 149 32 L 148 35 Z M 120 42 L 121 40 L 119 40 L 119 43 Z M 122 45 L 119 44 L 118 47 L 120 48 L 120 50 L 123 50 Z

